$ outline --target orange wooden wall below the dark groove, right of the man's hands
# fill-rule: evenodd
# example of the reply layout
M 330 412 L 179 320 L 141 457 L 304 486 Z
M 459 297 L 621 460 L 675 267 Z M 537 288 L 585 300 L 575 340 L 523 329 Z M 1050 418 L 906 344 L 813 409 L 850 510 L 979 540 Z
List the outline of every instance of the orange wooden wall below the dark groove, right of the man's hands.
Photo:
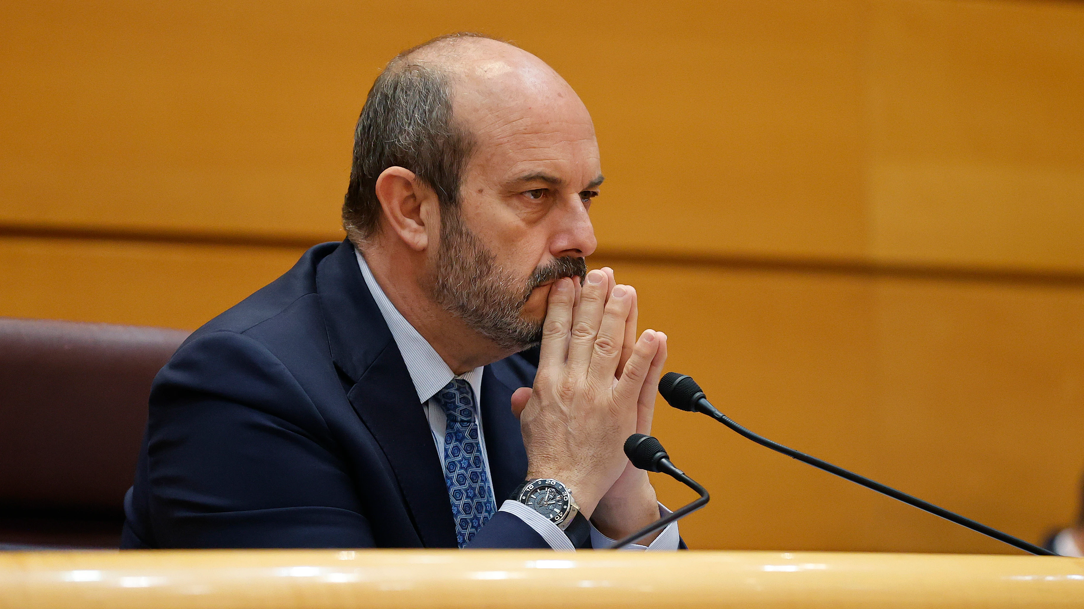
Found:
M 1032 541 L 1075 517 L 1084 286 L 614 267 L 671 337 L 668 367 L 754 431 Z M 700 547 L 1010 549 L 659 409 L 713 493 L 686 526 Z

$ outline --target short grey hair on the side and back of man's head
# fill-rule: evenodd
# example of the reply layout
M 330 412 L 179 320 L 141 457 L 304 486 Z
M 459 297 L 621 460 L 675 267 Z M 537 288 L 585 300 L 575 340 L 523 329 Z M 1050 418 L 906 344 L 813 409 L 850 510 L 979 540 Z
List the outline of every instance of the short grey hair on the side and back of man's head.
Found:
M 470 158 L 470 133 L 452 117 L 451 79 L 431 62 L 411 55 L 430 44 L 462 38 L 489 38 L 457 33 L 434 38 L 396 55 L 376 77 L 353 134 L 350 185 L 343 203 L 343 228 L 359 244 L 376 233 L 380 202 L 376 179 L 388 167 L 413 171 L 437 193 L 440 209 L 460 202 L 460 182 Z

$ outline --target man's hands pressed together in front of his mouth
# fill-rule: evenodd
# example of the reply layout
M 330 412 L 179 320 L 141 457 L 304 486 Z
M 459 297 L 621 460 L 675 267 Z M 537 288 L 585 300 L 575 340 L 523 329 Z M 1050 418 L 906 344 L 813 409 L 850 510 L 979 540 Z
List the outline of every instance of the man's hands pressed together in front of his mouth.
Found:
M 579 295 L 577 295 L 579 291 Z M 534 386 L 516 391 L 528 478 L 568 487 L 580 511 L 610 537 L 658 518 L 646 472 L 623 452 L 632 433 L 650 433 L 667 336 L 636 338 L 636 293 L 610 269 L 550 290 Z

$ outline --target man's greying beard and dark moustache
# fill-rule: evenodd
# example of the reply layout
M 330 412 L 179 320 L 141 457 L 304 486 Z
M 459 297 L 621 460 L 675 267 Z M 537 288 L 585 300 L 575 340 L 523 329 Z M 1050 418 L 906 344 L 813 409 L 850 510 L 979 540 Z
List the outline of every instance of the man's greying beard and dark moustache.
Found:
M 520 315 L 535 287 L 560 277 L 588 272 L 583 258 L 564 257 L 539 267 L 526 282 L 496 263 L 496 256 L 475 236 L 456 210 L 448 210 L 441 221 L 440 247 L 430 293 L 446 311 L 508 352 L 517 352 L 542 340 L 543 320 Z

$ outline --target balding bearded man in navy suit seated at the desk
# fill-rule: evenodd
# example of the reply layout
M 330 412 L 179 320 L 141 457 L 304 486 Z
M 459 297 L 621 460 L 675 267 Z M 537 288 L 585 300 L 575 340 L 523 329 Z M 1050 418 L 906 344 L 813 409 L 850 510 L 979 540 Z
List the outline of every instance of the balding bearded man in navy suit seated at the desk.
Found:
M 155 379 L 122 546 L 572 549 L 658 518 L 622 443 L 649 432 L 667 337 L 585 272 L 602 181 L 586 108 L 533 55 L 453 35 L 392 60 L 348 239 Z

